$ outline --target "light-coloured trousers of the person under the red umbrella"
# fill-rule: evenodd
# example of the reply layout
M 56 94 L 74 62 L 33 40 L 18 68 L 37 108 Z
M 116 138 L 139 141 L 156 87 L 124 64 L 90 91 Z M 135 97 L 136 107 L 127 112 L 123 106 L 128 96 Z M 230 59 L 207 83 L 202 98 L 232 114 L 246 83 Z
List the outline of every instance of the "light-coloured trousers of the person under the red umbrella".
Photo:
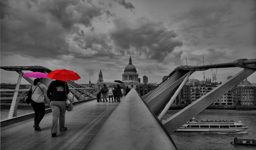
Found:
M 65 113 L 66 113 L 66 101 L 51 101 L 52 108 L 52 129 L 51 133 L 58 133 L 58 122 L 60 131 L 66 129 L 65 126 Z

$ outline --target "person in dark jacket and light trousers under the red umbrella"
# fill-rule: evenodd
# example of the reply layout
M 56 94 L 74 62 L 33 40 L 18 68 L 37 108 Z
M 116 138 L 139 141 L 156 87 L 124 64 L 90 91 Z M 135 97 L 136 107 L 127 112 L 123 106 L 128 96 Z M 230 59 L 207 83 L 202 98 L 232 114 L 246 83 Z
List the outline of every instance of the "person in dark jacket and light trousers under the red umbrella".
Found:
M 56 137 L 58 133 L 58 120 L 60 131 L 66 131 L 65 113 L 67 94 L 70 93 L 68 85 L 65 81 L 55 80 L 48 86 L 47 96 L 50 99 L 50 106 L 52 108 L 52 137 Z

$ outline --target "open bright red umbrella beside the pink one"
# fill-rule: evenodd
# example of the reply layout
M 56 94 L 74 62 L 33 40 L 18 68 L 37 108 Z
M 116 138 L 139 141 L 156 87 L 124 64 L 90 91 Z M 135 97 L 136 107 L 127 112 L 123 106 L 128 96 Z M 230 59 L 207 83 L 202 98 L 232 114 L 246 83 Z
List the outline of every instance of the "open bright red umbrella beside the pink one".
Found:
M 71 70 L 66 70 L 66 69 L 51 71 L 51 73 L 49 73 L 47 76 L 50 77 L 51 79 L 56 79 L 61 81 L 81 79 L 81 77 L 77 73 Z

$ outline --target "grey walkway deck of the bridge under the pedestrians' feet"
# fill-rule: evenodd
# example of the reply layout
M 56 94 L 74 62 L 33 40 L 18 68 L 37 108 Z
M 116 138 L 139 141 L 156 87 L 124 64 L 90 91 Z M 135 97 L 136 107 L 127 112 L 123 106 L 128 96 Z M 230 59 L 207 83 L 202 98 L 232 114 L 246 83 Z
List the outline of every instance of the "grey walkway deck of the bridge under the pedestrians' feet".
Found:
M 85 102 L 66 112 L 67 131 L 51 136 L 52 113 L 33 128 L 33 118 L 1 127 L 1 149 L 83 149 L 119 105 L 117 102 Z

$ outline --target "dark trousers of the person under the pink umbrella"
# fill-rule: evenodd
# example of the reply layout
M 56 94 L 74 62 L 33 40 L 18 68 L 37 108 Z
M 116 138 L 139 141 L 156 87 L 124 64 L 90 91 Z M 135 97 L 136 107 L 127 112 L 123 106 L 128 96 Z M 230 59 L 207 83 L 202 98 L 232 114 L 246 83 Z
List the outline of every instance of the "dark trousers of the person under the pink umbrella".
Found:
M 38 103 L 32 100 L 31 105 L 33 107 L 33 110 L 35 111 L 35 125 L 39 126 L 40 122 L 43 119 L 43 116 L 45 116 L 45 103 Z

